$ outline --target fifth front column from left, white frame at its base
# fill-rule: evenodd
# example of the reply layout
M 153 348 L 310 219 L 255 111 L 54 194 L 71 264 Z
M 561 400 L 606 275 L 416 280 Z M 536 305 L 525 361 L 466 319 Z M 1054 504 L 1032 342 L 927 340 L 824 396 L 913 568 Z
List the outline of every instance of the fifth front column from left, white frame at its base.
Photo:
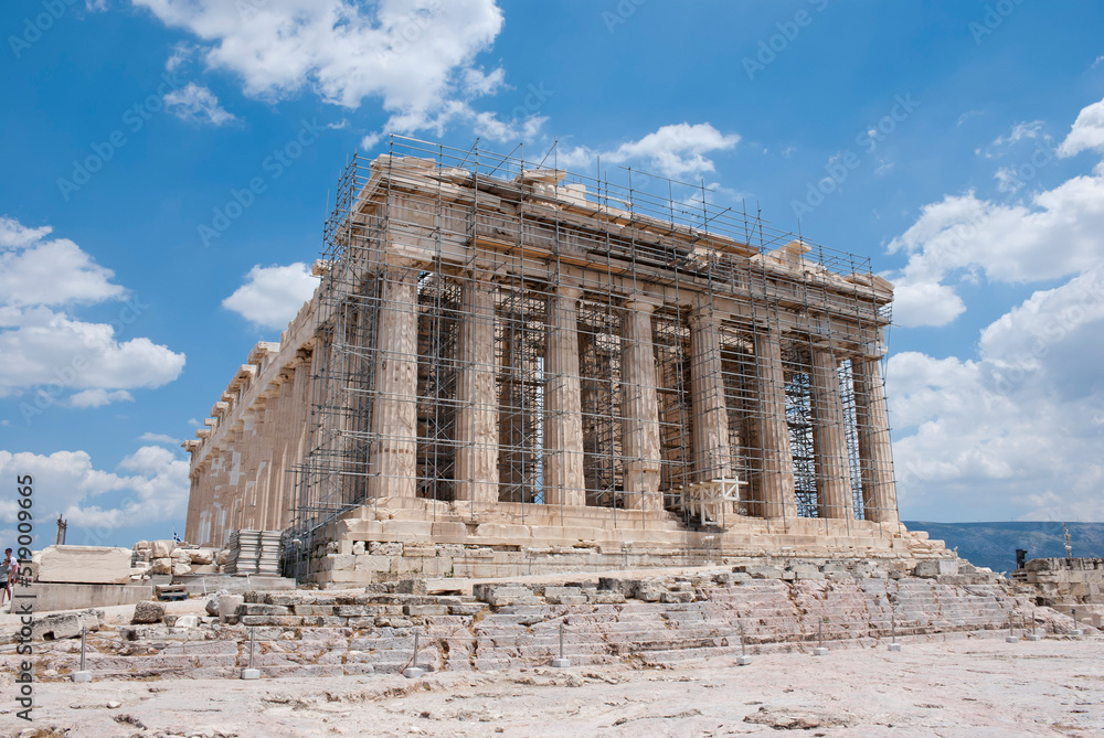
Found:
M 696 309 L 690 315 L 690 402 L 694 479 L 705 482 L 732 477 L 721 336 L 709 306 Z

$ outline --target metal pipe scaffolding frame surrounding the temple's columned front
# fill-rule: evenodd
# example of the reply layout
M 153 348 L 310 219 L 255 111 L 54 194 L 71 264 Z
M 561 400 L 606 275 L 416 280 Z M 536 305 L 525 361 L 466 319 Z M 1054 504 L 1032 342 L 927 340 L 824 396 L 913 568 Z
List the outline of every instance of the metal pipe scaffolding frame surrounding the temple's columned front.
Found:
M 381 372 L 393 372 L 396 364 L 417 375 L 416 395 L 399 398 L 391 411 L 415 418 L 414 496 L 431 501 L 434 516 L 448 510 L 464 482 L 457 478 L 457 453 L 471 442 L 473 431 L 459 428 L 458 418 L 473 403 L 497 411 L 498 502 L 518 503 L 522 520 L 528 507 L 545 503 L 545 467 L 560 451 L 545 448 L 546 428 L 555 419 L 545 408 L 545 354 L 549 332 L 563 328 L 552 324 L 549 304 L 556 287 L 580 272 L 582 298 L 572 328 L 588 506 L 616 515 L 624 505 L 631 459 L 623 440 L 623 325 L 626 301 L 644 298 L 659 306 L 650 339 L 662 509 L 687 525 L 718 523 L 716 513 L 707 521 L 701 504 L 688 504 L 683 492 L 715 479 L 733 483 L 720 498 L 724 504 L 711 510 L 766 515 L 761 400 L 768 387 L 755 346 L 773 330 L 782 336 L 798 515 L 825 514 L 810 356 L 815 346 L 847 345 L 861 353 L 863 344 L 882 340 L 889 300 L 872 287 L 869 259 L 775 228 L 758 213 L 714 203 L 714 193 L 702 184 L 656 175 L 641 182 L 639 172 L 625 168 L 615 171 L 623 180 L 617 184 L 601 169 L 593 177 L 564 172 L 558 159 L 555 146 L 527 159 L 520 146 L 502 156 L 478 141 L 464 150 L 392 136 L 386 154 L 374 161 L 353 156 L 348 162 L 323 228 L 310 440 L 296 469 L 288 531 L 304 553 L 312 549 L 319 528 L 379 500 L 373 490 L 386 470 L 373 459 L 393 440 L 375 417 Z M 413 246 L 431 254 L 428 263 L 396 267 L 395 253 Z M 461 252 L 466 256 L 458 263 Z M 466 307 L 466 290 L 479 285 L 491 293 L 489 311 Z M 416 315 L 406 323 L 410 317 L 400 314 L 391 296 L 411 289 Z M 739 314 L 719 312 L 715 368 L 692 359 L 694 300 L 740 308 Z M 463 355 L 466 323 L 489 327 L 492 351 Z M 391 324 L 413 324 L 415 335 L 403 346 L 383 349 L 381 325 Z M 703 419 L 696 414 L 691 384 L 716 371 L 721 376 L 709 392 L 722 396 L 716 402 L 724 408 L 728 440 L 705 459 L 693 448 Z M 492 373 L 493 389 L 461 397 L 460 383 L 471 372 Z M 870 429 L 858 420 L 847 356 L 839 357 L 836 375 L 852 512 L 862 518 L 870 494 L 863 490 L 859 439 Z M 733 496 L 731 490 L 740 492 Z M 468 506 L 473 515 L 475 507 Z

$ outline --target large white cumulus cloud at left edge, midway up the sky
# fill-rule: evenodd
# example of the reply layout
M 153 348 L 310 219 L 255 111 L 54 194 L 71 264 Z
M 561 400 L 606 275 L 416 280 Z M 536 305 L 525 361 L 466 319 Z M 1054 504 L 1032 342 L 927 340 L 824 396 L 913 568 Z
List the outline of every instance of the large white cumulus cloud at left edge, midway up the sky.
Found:
M 147 338 L 123 340 L 149 308 L 112 281 L 114 272 L 50 226 L 0 217 L 0 397 L 32 393 L 24 419 L 53 404 L 100 407 L 132 402 L 127 389 L 177 378 L 184 355 Z M 75 307 L 117 301 L 106 323 L 82 321 Z M 72 394 L 71 394 L 72 393 Z

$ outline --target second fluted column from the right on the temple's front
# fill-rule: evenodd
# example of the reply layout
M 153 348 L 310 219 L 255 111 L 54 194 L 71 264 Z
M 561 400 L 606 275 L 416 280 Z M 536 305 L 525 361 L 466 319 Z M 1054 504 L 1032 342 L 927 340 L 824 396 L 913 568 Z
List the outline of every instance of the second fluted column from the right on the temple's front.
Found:
M 813 451 L 820 517 L 854 517 L 843 400 L 830 349 L 813 347 Z

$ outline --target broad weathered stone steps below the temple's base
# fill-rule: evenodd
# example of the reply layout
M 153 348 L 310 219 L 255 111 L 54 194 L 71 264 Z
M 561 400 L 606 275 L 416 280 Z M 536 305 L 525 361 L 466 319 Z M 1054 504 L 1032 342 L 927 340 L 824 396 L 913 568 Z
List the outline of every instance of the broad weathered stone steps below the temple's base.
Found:
M 811 576 L 811 575 L 810 575 Z M 250 592 L 238 624 L 131 625 L 88 634 L 97 678 L 235 678 L 250 663 L 266 677 L 489 671 L 546 664 L 661 667 L 749 651 L 810 650 L 901 638 L 1001 631 L 1009 616 L 1037 617 L 1028 598 L 992 584 L 920 578 L 751 578 L 744 573 L 656 580 L 603 579 L 580 586 L 486 585 L 476 596 L 363 590 Z M 627 592 L 627 596 L 626 596 Z M 644 599 L 641 599 L 644 598 Z M 485 601 L 486 600 L 486 601 Z M 662 600 L 662 601 L 657 601 Z M 1072 620 L 1047 611 L 1049 632 Z M 79 640 L 35 644 L 40 678 L 77 667 Z M 17 663 L 14 644 L 0 662 Z

